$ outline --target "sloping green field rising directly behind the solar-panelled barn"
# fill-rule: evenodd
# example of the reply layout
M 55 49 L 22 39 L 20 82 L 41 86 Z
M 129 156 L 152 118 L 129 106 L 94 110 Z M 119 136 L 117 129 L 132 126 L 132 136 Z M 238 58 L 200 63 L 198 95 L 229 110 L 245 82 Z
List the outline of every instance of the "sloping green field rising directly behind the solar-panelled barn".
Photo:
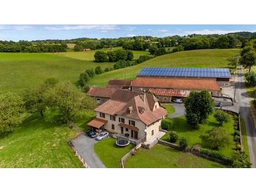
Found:
M 89 81 L 90 85 L 105 86 L 112 79 L 133 79 L 144 66 L 228 68 L 228 58 L 236 56 L 240 49 L 203 49 L 171 53 L 147 60 L 139 65 L 101 74 Z

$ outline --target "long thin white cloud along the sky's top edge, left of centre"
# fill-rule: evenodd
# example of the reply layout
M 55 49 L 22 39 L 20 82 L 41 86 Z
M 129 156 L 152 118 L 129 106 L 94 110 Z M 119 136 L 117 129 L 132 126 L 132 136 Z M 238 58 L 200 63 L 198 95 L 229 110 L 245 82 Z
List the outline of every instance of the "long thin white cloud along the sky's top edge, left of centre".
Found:
M 108 24 L 86 24 L 86 25 L 75 25 L 75 26 L 47 26 L 44 27 L 47 30 L 101 30 L 101 31 L 114 31 L 119 30 L 119 28 L 116 25 L 108 25 Z

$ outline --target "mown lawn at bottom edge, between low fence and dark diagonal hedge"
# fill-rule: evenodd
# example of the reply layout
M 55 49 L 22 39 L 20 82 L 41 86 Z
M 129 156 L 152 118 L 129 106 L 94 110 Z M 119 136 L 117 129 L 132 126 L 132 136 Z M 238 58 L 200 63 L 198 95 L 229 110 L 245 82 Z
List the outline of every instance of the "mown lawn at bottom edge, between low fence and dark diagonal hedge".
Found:
M 225 168 L 225 166 L 156 144 L 151 150 L 139 149 L 135 156 L 127 159 L 125 168 Z

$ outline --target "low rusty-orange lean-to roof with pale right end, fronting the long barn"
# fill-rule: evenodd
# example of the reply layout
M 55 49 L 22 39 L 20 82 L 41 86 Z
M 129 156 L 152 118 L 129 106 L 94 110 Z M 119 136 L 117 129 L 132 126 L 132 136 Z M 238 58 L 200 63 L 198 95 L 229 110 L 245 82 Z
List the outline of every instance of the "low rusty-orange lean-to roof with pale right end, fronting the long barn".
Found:
M 148 91 L 155 95 L 171 96 L 171 97 L 188 97 L 190 91 L 173 90 L 173 89 L 154 89 L 150 88 Z

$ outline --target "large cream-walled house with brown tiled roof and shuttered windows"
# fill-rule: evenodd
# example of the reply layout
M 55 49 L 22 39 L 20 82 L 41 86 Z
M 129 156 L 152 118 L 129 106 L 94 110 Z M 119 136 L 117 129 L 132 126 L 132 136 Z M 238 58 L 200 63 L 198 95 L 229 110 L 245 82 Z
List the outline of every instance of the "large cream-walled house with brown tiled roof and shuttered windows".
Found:
M 94 131 L 105 129 L 133 140 L 150 141 L 161 130 L 167 111 L 152 94 L 117 90 L 109 101 L 96 109 L 96 119 L 88 125 Z M 100 122 L 100 123 L 99 123 Z

